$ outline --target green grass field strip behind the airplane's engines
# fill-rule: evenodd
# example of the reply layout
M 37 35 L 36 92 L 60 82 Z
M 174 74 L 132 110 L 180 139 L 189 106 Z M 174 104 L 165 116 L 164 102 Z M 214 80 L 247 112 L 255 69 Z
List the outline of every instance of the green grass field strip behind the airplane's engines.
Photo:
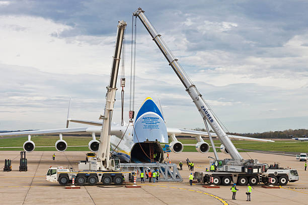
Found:
M 59 139 L 58 136 L 32 136 L 31 140 L 35 143 L 35 150 L 37 151 L 56 151 L 54 147 L 38 148 L 40 146 L 54 146 L 55 142 Z M 76 136 L 64 136 L 63 139 L 66 141 L 68 146 L 80 146 L 88 145 L 91 137 L 76 137 Z M 0 147 L 22 147 L 24 142 L 28 140 L 28 137 L 17 137 L 17 138 L 0 138 Z M 196 144 L 194 138 L 191 139 L 178 139 L 183 144 Z M 209 140 L 205 140 L 210 144 Z M 276 142 L 255 142 L 245 140 L 233 140 L 232 141 L 237 148 L 240 149 L 251 149 L 251 150 L 263 150 L 263 151 L 285 151 L 285 152 L 304 152 L 308 153 L 308 143 L 298 142 L 293 140 L 279 140 Z M 214 140 L 214 144 L 217 148 L 220 146 L 219 140 Z M 23 150 L 23 148 L 1 148 L 0 150 Z M 88 147 L 68 147 L 67 151 L 89 151 Z M 194 146 L 184 146 L 184 152 L 196 152 Z M 210 152 L 212 150 L 210 149 Z M 241 150 L 239 150 L 241 152 Z

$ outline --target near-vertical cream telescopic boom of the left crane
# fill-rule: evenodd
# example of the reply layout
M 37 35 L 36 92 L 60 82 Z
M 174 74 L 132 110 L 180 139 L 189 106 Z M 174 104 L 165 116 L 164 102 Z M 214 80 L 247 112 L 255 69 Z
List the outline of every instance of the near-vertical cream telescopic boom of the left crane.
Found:
M 116 84 L 117 77 L 120 65 L 120 56 L 122 50 L 122 43 L 124 37 L 124 31 L 126 29 L 127 23 L 124 21 L 119 21 L 118 30 L 117 30 L 117 39 L 116 46 L 114 49 L 113 62 L 110 73 L 110 81 L 107 86 L 107 94 L 106 94 L 106 105 L 104 116 L 101 116 L 100 119 L 103 119 L 101 137 L 100 137 L 100 145 L 98 150 L 98 159 L 102 161 L 103 167 L 105 169 L 109 169 L 109 152 L 110 152 L 110 125 L 112 119 L 112 111 L 115 102 L 115 94 L 116 94 Z

